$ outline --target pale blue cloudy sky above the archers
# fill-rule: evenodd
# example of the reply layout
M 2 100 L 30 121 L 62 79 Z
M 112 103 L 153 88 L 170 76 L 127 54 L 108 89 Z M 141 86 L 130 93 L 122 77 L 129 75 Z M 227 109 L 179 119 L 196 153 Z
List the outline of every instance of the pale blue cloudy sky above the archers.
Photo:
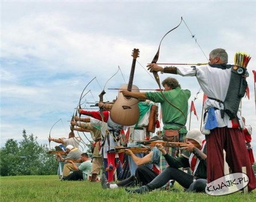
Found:
M 112 100 L 129 81 L 131 52 L 140 50 L 134 85 L 156 89 L 146 65 L 152 61 L 160 39 L 183 16 L 189 30 L 208 57 L 224 48 L 233 64 L 237 51 L 251 54 L 247 66 L 250 100 L 242 99 L 242 115 L 253 126 L 255 100 L 252 70 L 256 69 L 255 1 L 1 1 L 1 146 L 8 138 L 20 141 L 22 130 L 40 143 L 67 137 L 69 120 L 88 82 L 86 102 L 98 100 L 106 84 L 104 100 Z M 165 37 L 159 62 L 207 62 L 184 23 Z M 167 74 L 161 74 L 161 81 Z M 200 87 L 195 78 L 177 78 L 191 90 Z M 125 81 L 124 79 L 125 78 Z M 199 121 L 192 115 L 191 128 L 200 127 L 203 92 L 195 101 Z M 86 107 L 88 107 L 87 104 Z M 189 121 L 187 126 L 189 125 Z M 87 133 L 88 137 L 89 134 Z M 83 136 L 83 134 L 81 134 Z M 54 144 L 51 144 L 53 146 Z

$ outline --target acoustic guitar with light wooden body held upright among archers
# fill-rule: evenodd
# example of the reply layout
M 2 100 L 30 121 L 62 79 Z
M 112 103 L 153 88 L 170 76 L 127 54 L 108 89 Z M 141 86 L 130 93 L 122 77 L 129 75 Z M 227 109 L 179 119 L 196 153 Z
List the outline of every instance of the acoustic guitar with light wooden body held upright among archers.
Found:
M 131 65 L 129 83 L 120 87 L 117 100 L 110 111 L 110 117 L 115 123 L 127 126 L 134 125 L 139 120 L 138 99 L 125 97 L 120 92 L 123 89 L 127 89 L 130 92 L 139 92 L 139 88 L 133 85 L 134 70 L 136 59 L 139 56 L 139 49 L 134 48 L 131 56 L 133 56 L 133 63 Z

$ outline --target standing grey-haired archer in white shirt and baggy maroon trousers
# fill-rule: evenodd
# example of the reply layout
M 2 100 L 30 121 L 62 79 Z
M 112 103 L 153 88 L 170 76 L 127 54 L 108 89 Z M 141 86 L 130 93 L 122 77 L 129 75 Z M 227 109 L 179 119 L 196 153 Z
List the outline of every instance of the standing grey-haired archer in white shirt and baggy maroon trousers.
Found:
M 226 162 L 233 173 L 242 172 L 246 167 L 249 177 L 248 191 L 256 188 L 256 178 L 251 167 L 245 146 L 243 123 L 239 106 L 245 94 L 246 68 L 228 64 L 228 53 L 223 48 L 209 53 L 209 64 L 196 66 L 176 66 L 162 68 L 148 64 L 148 70 L 162 73 L 196 77 L 203 92 L 207 95 L 204 102 L 205 119 L 203 133 L 207 139 L 207 179 L 208 183 L 225 175 L 223 150 Z M 241 71 L 242 70 L 242 71 Z M 218 162 L 218 163 L 216 163 Z

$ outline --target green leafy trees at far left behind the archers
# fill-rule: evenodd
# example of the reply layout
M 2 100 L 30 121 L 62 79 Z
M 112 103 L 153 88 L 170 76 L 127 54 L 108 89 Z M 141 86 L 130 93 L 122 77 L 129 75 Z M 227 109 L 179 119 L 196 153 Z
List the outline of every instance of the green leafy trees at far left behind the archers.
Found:
M 13 138 L 0 149 L 0 175 L 56 175 L 58 163 L 55 155 L 47 154 L 47 145 L 39 145 L 34 134 L 22 132 L 23 140 Z

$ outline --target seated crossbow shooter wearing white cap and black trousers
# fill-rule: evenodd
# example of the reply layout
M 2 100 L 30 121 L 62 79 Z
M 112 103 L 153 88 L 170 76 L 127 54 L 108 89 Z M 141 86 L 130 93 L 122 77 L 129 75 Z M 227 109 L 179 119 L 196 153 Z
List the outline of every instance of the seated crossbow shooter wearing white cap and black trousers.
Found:
M 206 141 L 203 140 L 203 135 L 199 129 L 191 129 L 187 133 L 186 142 L 188 145 L 182 147 L 184 152 L 179 158 L 169 155 L 162 144 L 156 144 L 155 146 L 162 152 L 169 167 L 146 186 L 139 187 L 135 190 L 127 190 L 127 192 L 150 192 L 156 188 L 163 187 L 170 179 L 176 180 L 186 191 L 204 191 L 207 183 Z M 192 175 L 179 170 L 181 167 L 190 167 Z

